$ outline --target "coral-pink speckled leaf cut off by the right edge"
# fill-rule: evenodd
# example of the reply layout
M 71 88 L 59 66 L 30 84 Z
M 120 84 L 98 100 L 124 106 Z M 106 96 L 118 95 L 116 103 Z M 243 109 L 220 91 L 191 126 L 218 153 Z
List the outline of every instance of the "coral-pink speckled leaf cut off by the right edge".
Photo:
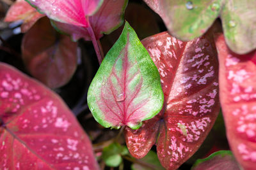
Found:
M 256 51 L 237 55 L 216 39 L 220 60 L 220 101 L 232 152 L 244 169 L 256 166 Z

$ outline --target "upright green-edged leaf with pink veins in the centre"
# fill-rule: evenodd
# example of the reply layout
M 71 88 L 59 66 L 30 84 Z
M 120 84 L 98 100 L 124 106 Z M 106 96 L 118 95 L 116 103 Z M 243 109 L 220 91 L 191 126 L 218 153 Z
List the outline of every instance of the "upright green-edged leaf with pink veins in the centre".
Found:
M 104 127 L 138 129 L 163 106 L 157 67 L 126 22 L 88 90 L 88 106 Z

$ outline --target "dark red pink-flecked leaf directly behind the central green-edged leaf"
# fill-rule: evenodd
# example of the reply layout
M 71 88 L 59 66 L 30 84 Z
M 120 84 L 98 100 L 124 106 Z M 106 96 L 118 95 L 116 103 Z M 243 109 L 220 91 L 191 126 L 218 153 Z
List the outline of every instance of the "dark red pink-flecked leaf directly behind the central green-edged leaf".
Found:
M 207 38 L 187 43 L 167 32 L 142 43 L 159 70 L 164 106 L 140 129 L 126 128 L 125 140 L 136 158 L 144 157 L 157 140 L 161 164 L 177 169 L 202 144 L 220 111 L 216 50 Z

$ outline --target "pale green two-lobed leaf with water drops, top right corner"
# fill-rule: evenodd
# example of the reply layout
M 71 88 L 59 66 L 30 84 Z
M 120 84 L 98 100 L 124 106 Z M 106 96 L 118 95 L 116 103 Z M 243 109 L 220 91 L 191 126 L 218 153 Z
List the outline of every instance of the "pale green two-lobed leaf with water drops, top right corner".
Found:
M 144 0 L 163 18 L 177 38 L 190 40 L 204 34 L 220 17 L 231 50 L 248 53 L 256 48 L 256 3 L 254 0 Z

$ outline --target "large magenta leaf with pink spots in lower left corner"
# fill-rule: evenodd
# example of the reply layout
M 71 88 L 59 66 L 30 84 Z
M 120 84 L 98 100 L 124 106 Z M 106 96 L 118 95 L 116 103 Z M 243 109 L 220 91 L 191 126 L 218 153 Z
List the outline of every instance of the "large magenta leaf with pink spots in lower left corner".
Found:
M 90 139 L 60 97 L 3 63 L 0 120 L 3 169 L 99 169 Z

